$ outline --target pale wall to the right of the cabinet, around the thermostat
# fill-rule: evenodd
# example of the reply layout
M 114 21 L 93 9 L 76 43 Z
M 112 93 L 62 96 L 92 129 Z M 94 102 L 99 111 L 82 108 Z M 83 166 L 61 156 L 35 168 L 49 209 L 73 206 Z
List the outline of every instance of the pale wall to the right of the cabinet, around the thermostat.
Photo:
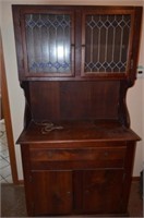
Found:
M 144 1 L 143 1 L 144 10 Z M 142 23 L 142 36 L 141 36 L 141 49 L 139 65 L 144 66 L 144 11 L 143 11 L 143 23 Z M 128 93 L 128 107 L 131 117 L 131 128 L 141 136 L 142 141 L 137 143 L 135 164 L 134 164 L 134 175 L 139 175 L 143 169 L 144 160 L 144 73 L 137 75 L 137 81 L 134 87 L 129 89 Z

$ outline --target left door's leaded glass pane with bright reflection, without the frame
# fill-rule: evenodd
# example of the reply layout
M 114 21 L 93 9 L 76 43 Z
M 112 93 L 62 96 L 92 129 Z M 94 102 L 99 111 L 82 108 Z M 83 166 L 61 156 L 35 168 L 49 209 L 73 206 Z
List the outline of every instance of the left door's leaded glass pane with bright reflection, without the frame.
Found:
M 26 14 L 26 49 L 32 73 L 71 71 L 71 17 L 68 14 Z

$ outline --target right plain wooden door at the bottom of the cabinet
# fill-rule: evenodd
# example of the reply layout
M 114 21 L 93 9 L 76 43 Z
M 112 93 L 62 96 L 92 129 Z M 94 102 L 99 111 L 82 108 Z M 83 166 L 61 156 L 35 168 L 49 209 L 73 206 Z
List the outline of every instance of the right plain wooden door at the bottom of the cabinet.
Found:
M 123 170 L 87 170 L 83 172 L 83 211 L 120 213 Z

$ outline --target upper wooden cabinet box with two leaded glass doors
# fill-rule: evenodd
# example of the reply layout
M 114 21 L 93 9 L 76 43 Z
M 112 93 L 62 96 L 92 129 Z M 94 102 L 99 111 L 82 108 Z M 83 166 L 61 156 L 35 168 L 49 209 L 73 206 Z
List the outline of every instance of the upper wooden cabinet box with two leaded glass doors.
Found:
M 134 80 L 141 16 L 140 7 L 14 5 L 20 80 Z

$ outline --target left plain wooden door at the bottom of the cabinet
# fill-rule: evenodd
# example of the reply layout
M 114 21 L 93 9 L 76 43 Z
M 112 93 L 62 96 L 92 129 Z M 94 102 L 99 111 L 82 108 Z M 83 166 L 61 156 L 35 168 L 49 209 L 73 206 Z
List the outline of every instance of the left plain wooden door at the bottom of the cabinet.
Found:
M 69 214 L 72 209 L 71 171 L 34 171 L 34 214 Z

